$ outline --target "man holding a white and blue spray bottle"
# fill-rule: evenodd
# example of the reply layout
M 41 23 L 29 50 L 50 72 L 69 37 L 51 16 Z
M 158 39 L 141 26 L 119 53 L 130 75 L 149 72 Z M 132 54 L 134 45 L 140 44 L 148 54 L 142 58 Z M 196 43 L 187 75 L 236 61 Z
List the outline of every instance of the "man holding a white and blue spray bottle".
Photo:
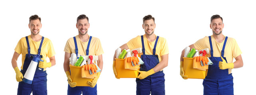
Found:
M 56 64 L 54 47 L 51 40 L 40 35 L 42 24 L 38 15 L 32 15 L 29 18 L 28 27 L 31 35 L 20 39 L 12 57 L 12 67 L 16 72 L 16 80 L 19 82 L 18 95 L 30 95 L 31 92 L 33 92 L 33 95 L 47 95 L 46 68 Z M 22 54 L 21 70 L 17 65 L 20 54 Z M 27 80 L 23 76 L 26 71 L 29 71 L 30 68 L 28 67 L 33 57 L 41 58 L 43 61 L 40 61 L 36 67 L 33 80 Z M 46 62 L 46 57 L 49 57 L 49 63 Z

